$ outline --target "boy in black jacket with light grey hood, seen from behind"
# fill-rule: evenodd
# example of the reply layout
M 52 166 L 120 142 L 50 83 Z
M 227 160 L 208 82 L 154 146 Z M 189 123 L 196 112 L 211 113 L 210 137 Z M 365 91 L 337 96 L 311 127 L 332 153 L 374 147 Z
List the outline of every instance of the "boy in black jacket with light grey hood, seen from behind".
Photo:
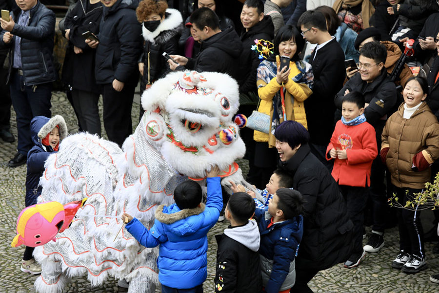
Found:
M 262 278 L 259 263 L 258 224 L 249 220 L 255 213 L 255 202 L 245 192 L 234 193 L 224 216 L 230 226 L 216 235 L 218 242 L 215 292 L 259 293 Z

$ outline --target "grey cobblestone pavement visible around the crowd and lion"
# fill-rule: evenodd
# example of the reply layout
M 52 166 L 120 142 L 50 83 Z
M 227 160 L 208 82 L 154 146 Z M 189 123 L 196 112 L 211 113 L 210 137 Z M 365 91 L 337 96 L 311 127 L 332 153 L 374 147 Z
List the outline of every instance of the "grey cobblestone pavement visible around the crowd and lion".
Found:
M 101 107 L 100 107 L 101 109 Z M 62 115 L 69 127 L 69 133 L 78 130 L 77 121 L 72 114 L 73 109 L 62 92 L 54 92 L 52 97 L 52 114 Z M 139 117 L 139 104 L 134 103 L 133 128 Z M 17 138 L 15 113 L 11 119 L 12 132 Z M 105 133 L 102 129 L 102 133 Z M 105 135 L 104 135 L 105 136 Z M 24 208 L 24 182 L 26 166 L 17 168 L 7 167 L 7 161 L 15 154 L 16 143 L 5 143 L 0 139 L 0 217 L 3 224 L 0 228 L 0 293 L 33 293 L 33 283 L 36 276 L 20 272 L 20 259 L 24 247 L 11 248 L 10 243 L 16 232 L 16 220 L 21 209 Z M 240 162 L 245 170 L 245 161 Z M 431 212 L 423 212 L 423 216 Z M 425 221 L 424 228 L 428 230 L 431 221 Z M 431 225 L 431 224 L 430 224 Z M 213 278 L 215 276 L 215 260 L 217 244 L 215 234 L 222 232 L 227 224 L 218 223 L 209 232 L 208 277 L 204 283 L 204 291 L 214 291 Z M 367 228 L 370 232 L 370 228 Z M 319 293 L 439 293 L 439 285 L 430 282 L 432 273 L 439 273 L 439 255 L 432 252 L 435 243 L 426 243 L 428 269 L 415 275 L 405 274 L 392 269 L 390 264 L 398 253 L 398 230 L 390 229 L 386 232 L 385 246 L 378 253 L 368 253 L 356 269 L 345 269 L 341 264 L 326 271 L 319 272 L 310 282 L 314 292 Z M 67 293 L 124 293 L 126 289 L 119 288 L 117 281 L 108 280 L 98 288 L 91 288 L 86 277 L 74 278 L 66 285 Z M 159 292 L 159 291 L 158 291 Z

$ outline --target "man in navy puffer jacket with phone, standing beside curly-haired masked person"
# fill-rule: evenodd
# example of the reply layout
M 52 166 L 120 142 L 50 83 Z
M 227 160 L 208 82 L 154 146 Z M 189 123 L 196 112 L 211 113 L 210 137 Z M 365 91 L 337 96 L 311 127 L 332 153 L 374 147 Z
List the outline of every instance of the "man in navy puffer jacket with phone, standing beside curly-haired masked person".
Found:
M 139 81 L 138 61 L 142 49 L 139 0 L 104 0 L 99 42 L 86 42 L 96 49 L 95 76 L 102 86 L 103 122 L 108 139 L 122 146 L 133 132 L 131 106 Z

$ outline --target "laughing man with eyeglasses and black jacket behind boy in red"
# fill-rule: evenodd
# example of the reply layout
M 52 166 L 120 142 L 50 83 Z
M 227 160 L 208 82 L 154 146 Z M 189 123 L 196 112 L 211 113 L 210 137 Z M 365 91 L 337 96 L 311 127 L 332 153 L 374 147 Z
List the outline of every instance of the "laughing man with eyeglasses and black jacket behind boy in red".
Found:
M 381 146 L 381 133 L 397 103 L 396 85 L 387 75 L 387 49 L 379 42 L 367 42 L 360 49 L 358 70 L 335 97 L 336 106 L 341 109 L 343 96 L 352 91 L 364 95 L 366 121 L 374 126 L 377 134 L 377 147 Z M 370 177 L 370 197 L 373 202 L 374 225 L 372 234 L 364 251 L 378 252 L 384 245 L 384 228 L 386 224 L 386 189 L 383 184 L 384 167 L 379 156 L 373 161 Z

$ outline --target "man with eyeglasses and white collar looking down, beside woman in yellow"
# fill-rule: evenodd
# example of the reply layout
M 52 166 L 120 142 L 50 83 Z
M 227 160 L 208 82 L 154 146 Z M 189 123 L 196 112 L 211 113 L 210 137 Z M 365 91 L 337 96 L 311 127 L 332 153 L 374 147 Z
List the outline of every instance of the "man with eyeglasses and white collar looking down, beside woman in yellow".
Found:
M 304 102 L 310 148 L 320 162 L 331 170 L 333 161 L 326 160 L 325 153 L 335 126 L 333 97 L 343 86 L 345 77 L 344 52 L 335 37 L 329 34 L 321 12 L 304 12 L 298 25 L 303 39 L 317 44 L 309 60 L 314 73 L 313 94 Z

